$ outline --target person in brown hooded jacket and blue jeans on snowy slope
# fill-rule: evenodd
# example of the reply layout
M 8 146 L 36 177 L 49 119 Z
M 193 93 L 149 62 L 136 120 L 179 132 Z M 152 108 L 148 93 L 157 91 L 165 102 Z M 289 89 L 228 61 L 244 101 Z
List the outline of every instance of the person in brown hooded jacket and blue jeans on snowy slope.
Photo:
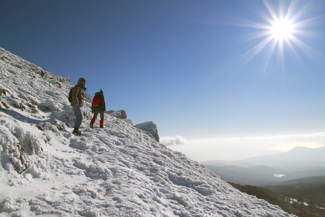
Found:
M 78 135 L 81 135 L 79 127 L 82 122 L 81 107 L 84 105 L 84 90 L 87 89 L 85 88 L 85 83 L 86 80 L 84 78 L 80 78 L 77 85 L 72 88 L 71 93 L 72 102 L 70 105 L 72 106 L 74 115 L 76 116 L 76 123 L 74 124 L 74 130 L 72 133 Z

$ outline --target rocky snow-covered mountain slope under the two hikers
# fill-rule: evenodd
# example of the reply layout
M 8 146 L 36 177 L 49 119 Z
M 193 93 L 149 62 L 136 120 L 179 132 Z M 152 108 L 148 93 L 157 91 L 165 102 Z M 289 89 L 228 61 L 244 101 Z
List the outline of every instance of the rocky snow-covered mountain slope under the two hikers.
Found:
M 121 119 L 88 128 L 89 102 L 72 135 L 69 78 L 0 58 L 1 216 L 292 216 Z

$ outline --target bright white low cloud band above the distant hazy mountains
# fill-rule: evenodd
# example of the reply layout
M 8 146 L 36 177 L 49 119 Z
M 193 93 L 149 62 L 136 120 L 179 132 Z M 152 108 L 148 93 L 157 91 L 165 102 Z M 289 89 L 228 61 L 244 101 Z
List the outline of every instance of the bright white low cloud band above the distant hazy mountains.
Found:
M 174 143 L 171 140 L 168 148 L 182 152 L 192 160 L 202 162 L 208 160 L 241 160 L 289 151 L 295 146 L 318 148 L 323 147 L 324 144 L 325 133 L 323 132 L 269 137 L 188 139 L 186 145 L 181 143 L 176 145 L 176 142 Z

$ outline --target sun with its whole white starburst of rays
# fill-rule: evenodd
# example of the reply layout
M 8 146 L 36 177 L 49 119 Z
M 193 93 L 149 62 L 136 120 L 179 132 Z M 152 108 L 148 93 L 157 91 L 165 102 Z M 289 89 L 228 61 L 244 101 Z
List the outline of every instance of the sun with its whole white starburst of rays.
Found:
M 242 25 L 261 30 L 248 38 L 248 41 L 259 40 L 259 42 L 242 54 L 245 57 L 243 65 L 252 60 L 266 47 L 264 70 L 271 64 L 273 53 L 277 54 L 277 65 L 279 63 L 281 70 L 285 70 L 285 49 L 292 51 L 291 55 L 293 54 L 300 63 L 302 63 L 299 57 L 301 52 L 315 63 L 324 61 L 323 56 L 299 39 L 299 36 L 303 35 L 306 38 L 307 36 L 317 35 L 318 32 L 308 31 L 306 28 L 321 23 L 319 19 L 325 17 L 325 14 L 316 14 L 308 17 L 306 15 L 309 14 L 308 12 L 311 10 L 312 5 L 307 4 L 299 7 L 296 0 L 291 0 L 291 2 L 287 2 L 288 4 L 284 4 L 285 2 L 282 1 L 279 7 L 274 7 L 271 1 L 263 0 L 263 3 L 267 10 L 258 11 L 257 14 L 266 22 L 246 22 Z

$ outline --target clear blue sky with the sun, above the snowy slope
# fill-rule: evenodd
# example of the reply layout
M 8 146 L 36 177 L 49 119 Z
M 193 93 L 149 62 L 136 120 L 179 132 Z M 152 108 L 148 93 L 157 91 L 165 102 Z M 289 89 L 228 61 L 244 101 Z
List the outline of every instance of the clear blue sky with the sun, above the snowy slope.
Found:
M 228 144 L 214 139 L 325 132 L 325 1 L 3 1 L 0 12 L 0 47 L 85 78 L 107 110 L 153 121 L 195 160 L 191 147 Z

